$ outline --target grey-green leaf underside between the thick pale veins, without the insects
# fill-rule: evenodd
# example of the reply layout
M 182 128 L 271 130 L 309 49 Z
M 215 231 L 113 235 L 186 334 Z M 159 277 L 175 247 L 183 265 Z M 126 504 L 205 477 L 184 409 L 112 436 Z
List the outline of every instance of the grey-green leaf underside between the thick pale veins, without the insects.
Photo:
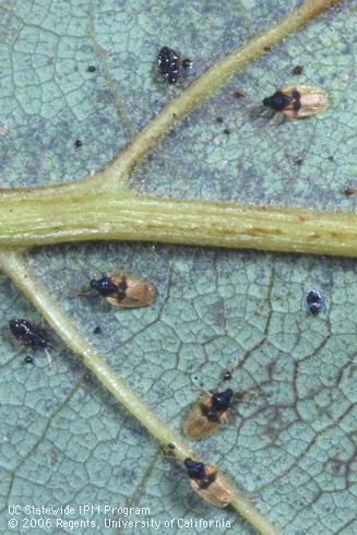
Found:
M 298 3 L 2 1 L 1 187 L 100 169 L 192 79 Z M 163 195 L 354 211 L 357 195 L 344 190 L 357 187 L 356 13 L 346 1 L 266 51 L 158 144 L 135 169 L 133 186 Z M 193 60 L 177 86 L 155 73 L 163 45 Z M 299 76 L 291 73 L 297 64 Z M 284 123 L 257 114 L 263 97 L 289 83 L 324 87 L 331 106 Z M 237 88 L 243 97 L 234 96 Z M 48 247 L 31 257 L 92 344 L 174 428 L 197 388 L 247 392 L 229 425 L 195 448 L 282 533 L 356 533 L 356 261 L 130 243 Z M 116 310 L 79 297 L 96 270 L 150 278 L 157 301 Z M 10 533 L 8 504 L 70 504 L 75 512 L 66 520 L 88 518 L 98 526 L 75 533 L 174 535 L 182 530 L 165 521 L 202 518 L 233 523 L 214 534 L 251 535 L 234 512 L 191 492 L 182 471 L 55 335 L 51 366 L 43 354 L 34 366 L 24 364 L 8 320 L 40 318 L 3 275 L 0 283 L 1 533 Z M 325 300 L 318 317 L 306 307 L 310 289 Z M 100 334 L 93 333 L 97 325 Z M 81 513 L 80 504 L 99 504 L 100 514 Z M 162 525 L 105 527 L 106 504 L 150 508 L 150 516 L 131 519 Z M 56 515 L 33 516 L 50 518 L 51 527 L 26 527 L 21 514 L 13 533 L 74 533 L 57 527 Z

